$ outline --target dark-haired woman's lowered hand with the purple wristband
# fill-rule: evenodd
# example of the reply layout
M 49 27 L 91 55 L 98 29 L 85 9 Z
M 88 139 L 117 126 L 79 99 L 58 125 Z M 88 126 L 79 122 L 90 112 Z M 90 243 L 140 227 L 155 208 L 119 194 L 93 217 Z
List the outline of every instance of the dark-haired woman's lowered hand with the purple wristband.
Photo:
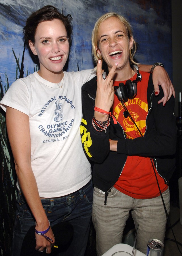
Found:
M 36 230 L 42 231 L 37 226 L 36 226 Z M 44 251 L 44 249 L 46 249 L 46 253 L 51 253 L 51 248 L 54 246 L 54 243 L 55 243 L 55 238 L 54 238 L 54 234 L 51 227 L 45 235 L 51 238 L 53 242 L 47 240 L 44 236 L 40 236 L 35 233 L 35 239 L 36 239 L 35 250 Z

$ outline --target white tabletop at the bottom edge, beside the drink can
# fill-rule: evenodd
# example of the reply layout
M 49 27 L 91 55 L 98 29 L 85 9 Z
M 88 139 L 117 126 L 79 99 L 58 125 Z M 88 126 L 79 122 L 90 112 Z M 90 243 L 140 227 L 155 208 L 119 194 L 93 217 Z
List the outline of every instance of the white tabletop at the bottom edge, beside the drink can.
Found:
M 146 249 L 147 249 L 147 246 L 146 246 Z M 131 247 L 130 245 L 125 244 L 125 243 L 118 243 L 118 244 L 114 245 L 113 247 L 111 247 L 108 251 L 106 251 L 102 256 L 111 256 L 113 253 L 115 253 L 117 251 L 126 251 L 128 253 L 132 253 L 133 247 Z M 135 249 L 134 256 L 146 256 L 146 254 Z

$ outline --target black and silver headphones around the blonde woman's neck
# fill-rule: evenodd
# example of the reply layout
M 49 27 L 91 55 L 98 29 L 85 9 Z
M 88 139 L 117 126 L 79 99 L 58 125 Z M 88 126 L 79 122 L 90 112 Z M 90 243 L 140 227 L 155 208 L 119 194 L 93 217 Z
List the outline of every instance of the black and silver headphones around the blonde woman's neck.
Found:
M 137 65 L 133 65 L 135 73 L 137 73 L 137 78 L 132 82 L 127 80 L 125 85 L 120 83 L 119 86 L 115 86 L 116 94 L 120 101 L 126 102 L 128 99 L 133 99 L 137 95 L 137 82 L 142 80 L 142 76 L 139 73 Z

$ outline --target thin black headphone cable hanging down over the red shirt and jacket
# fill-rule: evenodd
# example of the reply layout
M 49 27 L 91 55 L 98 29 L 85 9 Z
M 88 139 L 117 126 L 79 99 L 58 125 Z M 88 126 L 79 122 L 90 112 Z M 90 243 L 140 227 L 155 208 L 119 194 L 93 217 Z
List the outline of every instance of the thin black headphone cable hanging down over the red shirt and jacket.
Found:
M 136 126 L 136 128 L 137 128 L 138 131 L 139 131 L 139 133 L 140 133 L 141 136 L 143 137 L 143 134 L 141 133 L 141 131 L 140 131 L 140 129 L 138 128 L 137 124 L 135 123 L 135 121 L 134 121 L 133 118 L 131 117 L 129 111 L 127 110 L 127 108 L 126 108 L 126 106 L 125 106 L 125 104 L 124 104 L 124 102 L 123 102 L 123 100 L 121 100 L 121 103 L 122 103 L 122 105 L 123 105 L 124 110 L 128 113 L 129 117 L 130 117 L 131 120 L 133 121 L 133 124 Z M 175 243 L 176 243 L 176 245 L 177 245 L 177 249 L 178 249 L 178 251 L 179 251 L 179 252 L 181 253 L 181 255 L 182 255 L 182 252 L 180 251 L 179 246 L 178 246 L 178 243 L 179 243 L 179 242 L 177 242 L 177 240 L 176 240 L 176 237 L 175 237 L 175 234 L 174 234 L 174 232 L 173 232 L 173 228 L 172 228 L 171 222 L 170 222 L 170 220 L 169 220 L 168 212 L 167 212 L 167 209 L 166 209 L 166 205 L 165 205 L 165 203 L 164 203 L 164 199 L 163 199 L 163 196 L 162 196 L 162 192 L 161 192 L 161 190 L 160 190 L 160 186 L 159 186 L 159 183 L 158 183 L 156 171 L 155 171 L 154 164 L 153 164 L 153 162 L 152 162 L 152 158 L 151 158 L 151 157 L 150 157 L 150 161 L 151 161 L 151 163 L 152 163 L 152 168 L 153 168 L 153 170 L 154 170 L 154 174 L 155 174 L 155 177 L 156 177 L 156 181 L 157 181 L 159 193 L 160 193 L 160 196 L 161 196 L 161 199 L 162 199 L 162 203 L 163 203 L 163 206 L 164 206 L 164 211 L 165 211 L 165 213 L 166 213 L 166 218 L 167 218 L 167 220 L 168 220 L 168 222 L 169 222 L 169 224 L 170 224 L 170 228 L 171 228 L 173 237 L 174 237 L 174 239 L 175 239 L 175 240 L 173 240 L 173 241 L 175 241 Z

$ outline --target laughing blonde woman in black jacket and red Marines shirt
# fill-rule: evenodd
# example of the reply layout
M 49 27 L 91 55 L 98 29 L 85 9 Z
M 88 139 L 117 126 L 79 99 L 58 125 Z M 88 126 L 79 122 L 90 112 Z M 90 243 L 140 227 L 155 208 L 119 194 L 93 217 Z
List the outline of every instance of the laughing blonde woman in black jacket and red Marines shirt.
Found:
M 92 47 L 97 77 L 82 86 L 81 139 L 94 162 L 97 255 L 122 242 L 130 211 L 135 227 L 139 224 L 137 249 L 146 255 L 148 240 L 164 242 L 165 237 L 168 183 L 175 170 L 174 97 L 164 107 L 161 88 L 157 97 L 154 94 L 152 74 L 139 73 L 133 60 L 136 42 L 124 17 L 101 16 Z

